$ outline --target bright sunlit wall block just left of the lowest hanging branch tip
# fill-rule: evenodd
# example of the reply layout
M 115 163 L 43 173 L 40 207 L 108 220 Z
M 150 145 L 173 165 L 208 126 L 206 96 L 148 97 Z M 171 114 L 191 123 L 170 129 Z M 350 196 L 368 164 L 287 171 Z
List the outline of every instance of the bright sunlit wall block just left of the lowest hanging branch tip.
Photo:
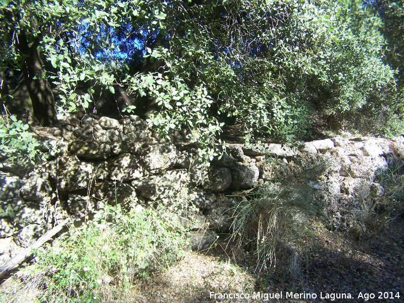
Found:
M 177 149 L 172 143 L 151 146 L 144 159 L 144 169 L 150 173 L 161 173 L 177 162 Z

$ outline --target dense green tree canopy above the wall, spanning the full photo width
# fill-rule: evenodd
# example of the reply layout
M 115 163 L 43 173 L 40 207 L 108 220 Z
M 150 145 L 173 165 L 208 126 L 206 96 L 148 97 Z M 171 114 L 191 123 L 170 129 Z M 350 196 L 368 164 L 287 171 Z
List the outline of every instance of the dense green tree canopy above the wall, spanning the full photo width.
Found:
M 107 98 L 206 150 L 235 123 L 246 140 L 292 141 L 313 115 L 401 131 L 402 1 L 2 3 L 1 68 L 23 72 L 42 124 Z

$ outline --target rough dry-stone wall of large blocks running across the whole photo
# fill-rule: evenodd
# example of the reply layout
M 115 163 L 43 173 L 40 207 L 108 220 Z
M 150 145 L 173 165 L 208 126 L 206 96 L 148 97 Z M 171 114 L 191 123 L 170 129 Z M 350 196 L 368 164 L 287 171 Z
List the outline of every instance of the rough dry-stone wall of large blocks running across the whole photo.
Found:
M 66 216 L 91 216 L 103 199 L 126 209 L 141 209 L 155 201 L 170 209 L 173 197 L 184 189 L 190 206 L 187 219 L 174 214 L 173 218 L 192 233 L 193 248 L 203 249 L 216 233 L 228 231 L 229 210 L 248 192 L 266 182 L 298 180 L 314 163 L 325 166 L 311 180 L 301 182 L 309 182 L 312 198 L 326 205 L 328 227 L 347 228 L 349 220 L 341 220 L 346 215 L 343 210 L 359 199 L 377 200 L 383 188 L 373 182 L 375 171 L 387 166 L 392 153 L 404 153 L 403 137 L 346 135 L 294 148 L 228 144 L 227 154 L 204 166 L 186 130 L 173 131 L 170 140 L 160 138 L 133 115 L 119 121 L 69 117 L 42 140 L 58 146 L 60 155 L 35 167 L 8 159 L 0 163 L 1 208 L 11 206 L 15 214 L 0 220 L 0 262 Z M 202 236 L 199 230 L 209 232 Z

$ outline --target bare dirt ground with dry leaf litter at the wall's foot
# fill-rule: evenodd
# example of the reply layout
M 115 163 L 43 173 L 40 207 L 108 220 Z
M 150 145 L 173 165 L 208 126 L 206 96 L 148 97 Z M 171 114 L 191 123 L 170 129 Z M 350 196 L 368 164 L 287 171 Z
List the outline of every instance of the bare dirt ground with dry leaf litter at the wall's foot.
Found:
M 223 250 L 221 254 L 218 251 L 208 254 L 189 252 L 166 273 L 139 282 L 131 295 L 133 302 L 404 301 L 402 219 L 389 229 L 371 235 L 370 239 L 361 240 L 317 228 L 313 248 L 308 255 L 300 256 L 300 271 L 295 276 L 282 270 L 257 274 L 251 269 L 254 257 L 242 252 L 239 257 L 232 252 L 223 255 Z M 268 296 L 282 292 L 282 298 L 254 299 L 254 293 L 258 292 Z M 298 299 L 286 298 L 286 292 L 302 295 Z M 248 294 L 249 298 L 223 297 L 226 293 L 233 294 L 233 297 Z M 314 298 L 313 294 L 317 297 Z M 344 294 L 345 298 L 338 299 L 339 294 Z M 348 294 L 351 299 L 346 298 Z M 371 298 L 372 294 L 374 298 Z M 368 300 L 367 295 L 370 296 Z

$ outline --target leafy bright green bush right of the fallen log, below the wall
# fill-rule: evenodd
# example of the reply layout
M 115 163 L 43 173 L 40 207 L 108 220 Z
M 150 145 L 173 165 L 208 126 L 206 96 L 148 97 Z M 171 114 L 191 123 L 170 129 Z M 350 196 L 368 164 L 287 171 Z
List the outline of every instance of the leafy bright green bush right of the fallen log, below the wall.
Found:
M 123 299 L 135 277 L 147 277 L 178 260 L 184 240 L 173 231 L 179 230 L 177 225 L 151 208 L 125 214 L 120 205 L 102 205 L 92 221 L 71 226 L 52 246 L 37 251 L 36 271 L 46 279 L 41 299 Z

